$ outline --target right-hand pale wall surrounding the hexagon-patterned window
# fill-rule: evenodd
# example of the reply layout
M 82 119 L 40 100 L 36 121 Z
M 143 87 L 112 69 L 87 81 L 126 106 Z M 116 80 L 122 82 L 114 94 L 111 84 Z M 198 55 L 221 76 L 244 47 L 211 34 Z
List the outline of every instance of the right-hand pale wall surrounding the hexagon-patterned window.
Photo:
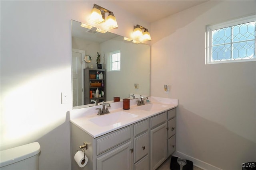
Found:
M 151 95 L 179 99 L 177 155 L 225 170 L 255 161 L 256 62 L 204 64 L 205 26 L 255 12 L 209 1 L 151 24 Z

